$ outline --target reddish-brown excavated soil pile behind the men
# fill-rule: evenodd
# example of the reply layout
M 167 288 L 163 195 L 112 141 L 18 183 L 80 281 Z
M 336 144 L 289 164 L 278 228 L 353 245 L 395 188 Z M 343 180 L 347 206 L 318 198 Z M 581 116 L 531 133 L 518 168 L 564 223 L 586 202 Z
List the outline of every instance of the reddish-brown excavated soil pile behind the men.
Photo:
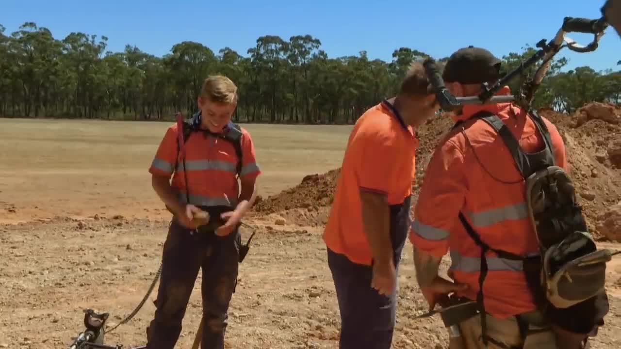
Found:
M 563 137 L 589 229 L 602 238 L 621 239 L 621 107 L 591 103 L 571 115 L 550 109 L 540 110 L 540 115 Z M 438 116 L 418 132 L 414 202 L 433 149 L 452 125 L 450 117 Z M 278 214 L 274 219 L 300 225 L 325 224 L 339 173 L 337 169 L 306 176 L 296 187 L 259 201 L 253 211 Z

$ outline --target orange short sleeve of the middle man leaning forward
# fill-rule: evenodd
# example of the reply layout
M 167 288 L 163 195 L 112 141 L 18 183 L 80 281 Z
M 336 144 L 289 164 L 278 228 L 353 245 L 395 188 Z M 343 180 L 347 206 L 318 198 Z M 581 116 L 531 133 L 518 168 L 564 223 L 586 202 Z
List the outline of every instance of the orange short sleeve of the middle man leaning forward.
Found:
M 402 168 L 399 142 L 381 132 L 365 132 L 356 142 L 361 142 L 362 150 L 357 171 L 360 189 L 388 196 Z

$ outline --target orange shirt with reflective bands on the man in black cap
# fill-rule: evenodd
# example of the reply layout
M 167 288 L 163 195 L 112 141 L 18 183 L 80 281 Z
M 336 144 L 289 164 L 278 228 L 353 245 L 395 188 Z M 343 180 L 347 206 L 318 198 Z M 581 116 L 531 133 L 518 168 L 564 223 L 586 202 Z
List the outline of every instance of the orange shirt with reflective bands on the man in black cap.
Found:
M 508 92 L 506 86 L 500 91 Z M 466 120 L 482 110 L 496 114 L 525 152 L 545 146 L 533 120 L 510 103 L 466 105 L 458 119 Z M 550 121 L 543 121 L 550 131 L 555 165 L 566 168 L 563 140 Z M 460 296 L 476 300 L 481 248 L 461 224 L 460 211 L 487 245 L 520 256 L 538 254 L 528 218 L 525 182 L 502 138 L 484 120 L 466 120 L 448 132 L 435 149 L 410 231 L 410 242 L 420 250 L 435 256 L 450 250 L 449 276 L 468 285 Z M 522 261 L 505 260 L 491 251 L 486 259 L 486 311 L 504 318 L 534 310 Z

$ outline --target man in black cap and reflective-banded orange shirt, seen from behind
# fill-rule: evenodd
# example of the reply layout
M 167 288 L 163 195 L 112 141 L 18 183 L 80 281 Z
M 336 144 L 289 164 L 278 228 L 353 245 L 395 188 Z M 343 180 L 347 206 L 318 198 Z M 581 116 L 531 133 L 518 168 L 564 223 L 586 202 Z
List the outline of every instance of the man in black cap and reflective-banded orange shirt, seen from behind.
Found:
M 491 52 L 466 47 L 450 56 L 442 77 L 452 94 L 468 97 L 481 93 L 482 83 L 495 83 L 501 77 L 500 71 L 501 60 Z M 497 94 L 510 94 L 509 87 L 504 86 Z M 524 180 L 497 132 L 484 120 L 473 117 L 478 112 L 495 114 L 524 152 L 537 152 L 544 146 L 533 120 L 510 102 L 466 104 L 451 115 L 460 124 L 440 140 L 427 166 L 409 237 L 414 245 L 417 281 L 431 307 L 444 296 L 446 284 L 452 283 L 438 276 L 440 260 L 449 250 L 448 276 L 466 285 L 456 294 L 472 301 L 478 297 L 481 247 L 469 237 L 460 213 L 481 240 L 492 247 L 520 256 L 538 252 L 525 209 Z M 550 132 L 556 165 L 565 168 L 563 140 L 551 122 L 543 121 Z M 556 348 L 555 335 L 541 321 L 522 267 L 515 260 L 494 253 L 487 255 L 483 295 L 487 342 L 496 344 L 494 348 Z M 525 324 L 541 331 L 524 338 L 520 329 Z M 482 327 L 481 316 L 473 314 L 451 335 L 461 330 L 466 348 L 485 348 Z

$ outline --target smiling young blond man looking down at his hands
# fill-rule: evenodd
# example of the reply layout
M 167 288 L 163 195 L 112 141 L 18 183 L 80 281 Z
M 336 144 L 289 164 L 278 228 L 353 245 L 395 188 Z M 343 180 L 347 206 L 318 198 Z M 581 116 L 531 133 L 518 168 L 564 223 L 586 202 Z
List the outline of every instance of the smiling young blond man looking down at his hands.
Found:
M 231 122 L 237 98 L 237 86 L 229 78 L 209 76 L 197 98 L 199 112 L 188 124 L 184 152 L 178 145 L 182 130 L 170 125 L 149 168 L 153 189 L 173 213 L 155 317 L 147 329 L 149 349 L 175 347 L 199 269 L 202 347 L 224 348 L 227 311 L 237 283 L 238 227 L 255 200 L 261 173 L 250 134 Z M 200 211 L 209 213 L 209 225 L 194 219 Z

